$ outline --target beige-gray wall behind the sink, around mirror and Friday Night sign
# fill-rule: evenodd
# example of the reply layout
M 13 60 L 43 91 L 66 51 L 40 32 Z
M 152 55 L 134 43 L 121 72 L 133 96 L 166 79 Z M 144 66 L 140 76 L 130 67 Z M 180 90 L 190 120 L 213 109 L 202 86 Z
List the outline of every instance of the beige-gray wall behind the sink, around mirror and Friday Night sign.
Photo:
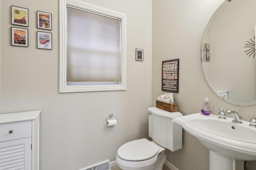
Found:
M 200 112 L 205 97 L 210 98 L 210 106 L 239 110 L 246 121 L 255 114 L 256 106 L 239 107 L 221 100 L 208 86 L 202 72 L 202 35 L 222 2 L 224 0 L 153 0 L 153 104 L 164 93 L 161 91 L 162 61 L 180 59 L 179 93 L 174 94 L 174 101 L 183 115 Z M 212 113 L 217 115 L 218 110 L 212 109 Z M 182 150 L 167 151 L 167 155 L 168 161 L 180 170 L 209 169 L 209 150 L 186 131 L 183 131 Z M 247 164 L 248 169 L 255 169 L 256 162 Z M 237 170 L 243 170 L 242 162 L 238 162 Z

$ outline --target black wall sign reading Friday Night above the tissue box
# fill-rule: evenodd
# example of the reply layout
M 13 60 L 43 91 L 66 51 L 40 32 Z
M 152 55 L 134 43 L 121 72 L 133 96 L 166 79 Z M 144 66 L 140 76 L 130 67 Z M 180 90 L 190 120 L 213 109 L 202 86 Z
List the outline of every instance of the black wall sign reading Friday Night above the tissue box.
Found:
M 162 91 L 179 92 L 179 59 L 162 61 Z

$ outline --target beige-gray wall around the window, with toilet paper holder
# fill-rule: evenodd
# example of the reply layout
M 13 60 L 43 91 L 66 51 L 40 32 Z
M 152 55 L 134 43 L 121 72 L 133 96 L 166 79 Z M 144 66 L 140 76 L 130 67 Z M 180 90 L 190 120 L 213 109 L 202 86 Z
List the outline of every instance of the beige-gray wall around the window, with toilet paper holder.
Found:
M 77 170 L 115 160 L 124 143 L 148 137 L 152 106 L 152 1 L 84 0 L 127 15 L 127 90 L 59 94 L 59 1 L 2 3 L 1 113 L 42 110 L 40 169 Z M 29 47 L 10 42 L 11 6 L 29 10 Z M 52 13 L 52 31 L 36 28 L 36 11 Z M 36 31 L 52 33 L 52 50 L 37 49 Z M 135 49 L 144 61 L 135 61 Z M 115 127 L 106 126 L 114 113 Z

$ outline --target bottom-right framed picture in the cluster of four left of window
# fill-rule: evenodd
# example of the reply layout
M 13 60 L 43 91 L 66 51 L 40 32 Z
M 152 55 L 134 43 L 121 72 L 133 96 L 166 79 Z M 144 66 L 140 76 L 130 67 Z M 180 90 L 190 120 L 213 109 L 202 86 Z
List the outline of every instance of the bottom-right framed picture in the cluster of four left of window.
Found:
M 37 31 L 37 48 L 52 49 L 52 33 Z

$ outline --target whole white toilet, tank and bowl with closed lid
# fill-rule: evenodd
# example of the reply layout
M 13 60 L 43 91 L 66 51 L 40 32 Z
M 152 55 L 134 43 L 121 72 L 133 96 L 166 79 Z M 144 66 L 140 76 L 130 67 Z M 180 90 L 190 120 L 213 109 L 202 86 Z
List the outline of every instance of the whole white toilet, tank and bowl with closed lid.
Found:
M 148 133 L 153 141 L 138 139 L 122 145 L 116 162 L 122 170 L 162 170 L 166 161 L 165 149 L 182 149 L 182 127 L 172 122 L 180 112 L 148 108 Z

